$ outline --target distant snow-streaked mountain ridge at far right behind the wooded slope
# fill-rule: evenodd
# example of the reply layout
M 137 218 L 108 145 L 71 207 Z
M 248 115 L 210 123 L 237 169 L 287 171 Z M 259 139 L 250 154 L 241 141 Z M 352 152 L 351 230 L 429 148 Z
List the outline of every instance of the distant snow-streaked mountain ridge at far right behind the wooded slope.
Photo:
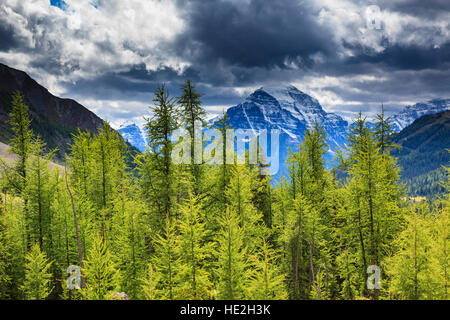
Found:
M 422 116 L 447 110 L 450 110 L 450 99 L 434 99 L 419 102 L 413 106 L 406 106 L 402 111 L 392 116 L 394 129 L 399 132 Z

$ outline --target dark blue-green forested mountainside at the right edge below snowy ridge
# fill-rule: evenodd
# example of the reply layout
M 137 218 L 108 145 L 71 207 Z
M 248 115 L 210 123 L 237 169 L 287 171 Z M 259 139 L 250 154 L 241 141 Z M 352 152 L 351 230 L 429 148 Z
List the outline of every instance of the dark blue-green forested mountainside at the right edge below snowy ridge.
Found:
M 442 193 L 445 180 L 442 166 L 450 162 L 450 111 L 425 115 L 403 129 L 394 138 L 401 149 L 394 151 L 402 168 L 401 178 L 413 195 Z

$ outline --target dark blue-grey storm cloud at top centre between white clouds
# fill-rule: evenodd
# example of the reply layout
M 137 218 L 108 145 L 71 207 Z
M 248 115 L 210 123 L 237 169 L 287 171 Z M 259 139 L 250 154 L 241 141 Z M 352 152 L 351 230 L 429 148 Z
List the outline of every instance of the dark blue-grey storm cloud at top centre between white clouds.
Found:
M 333 53 L 328 30 L 298 0 L 180 1 L 187 30 L 176 41 L 180 55 L 198 63 L 223 61 L 246 68 L 312 64 Z

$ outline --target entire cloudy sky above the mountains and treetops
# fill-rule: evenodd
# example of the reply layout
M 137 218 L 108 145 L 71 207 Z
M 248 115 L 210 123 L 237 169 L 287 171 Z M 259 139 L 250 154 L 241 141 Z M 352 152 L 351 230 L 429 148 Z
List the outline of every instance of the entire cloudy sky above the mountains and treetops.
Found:
M 450 98 L 449 0 L 1 0 L 0 62 L 117 126 L 186 78 L 211 113 L 293 84 L 350 117 Z

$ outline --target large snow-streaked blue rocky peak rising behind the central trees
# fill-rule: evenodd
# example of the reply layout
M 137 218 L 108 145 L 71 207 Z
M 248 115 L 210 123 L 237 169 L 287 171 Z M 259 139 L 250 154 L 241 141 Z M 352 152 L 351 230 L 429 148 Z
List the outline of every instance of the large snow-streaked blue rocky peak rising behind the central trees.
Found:
M 346 142 L 348 122 L 327 113 L 316 99 L 294 86 L 260 88 L 239 105 L 229 108 L 227 114 L 234 129 L 280 130 L 280 168 L 284 174 L 288 150 L 298 150 L 305 130 L 315 121 L 327 133 L 328 159 L 335 148 L 341 148 Z

